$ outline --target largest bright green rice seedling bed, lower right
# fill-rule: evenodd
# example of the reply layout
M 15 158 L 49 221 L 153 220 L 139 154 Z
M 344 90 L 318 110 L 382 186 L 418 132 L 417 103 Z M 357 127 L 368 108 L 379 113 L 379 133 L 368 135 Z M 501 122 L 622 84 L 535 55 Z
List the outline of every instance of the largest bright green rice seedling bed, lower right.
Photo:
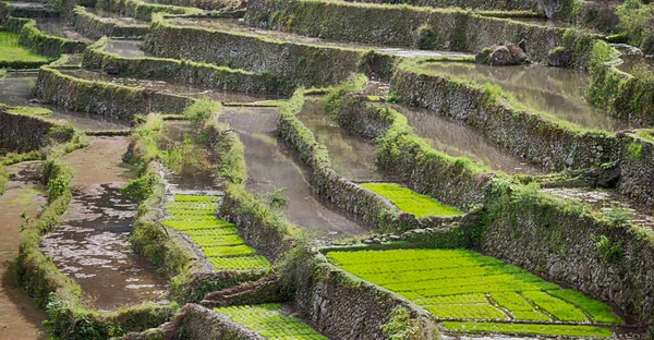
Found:
M 471 251 L 329 252 L 327 257 L 342 269 L 412 300 L 443 320 L 622 323 L 600 301 L 561 290 L 516 266 Z M 567 326 L 572 325 L 556 327 Z

